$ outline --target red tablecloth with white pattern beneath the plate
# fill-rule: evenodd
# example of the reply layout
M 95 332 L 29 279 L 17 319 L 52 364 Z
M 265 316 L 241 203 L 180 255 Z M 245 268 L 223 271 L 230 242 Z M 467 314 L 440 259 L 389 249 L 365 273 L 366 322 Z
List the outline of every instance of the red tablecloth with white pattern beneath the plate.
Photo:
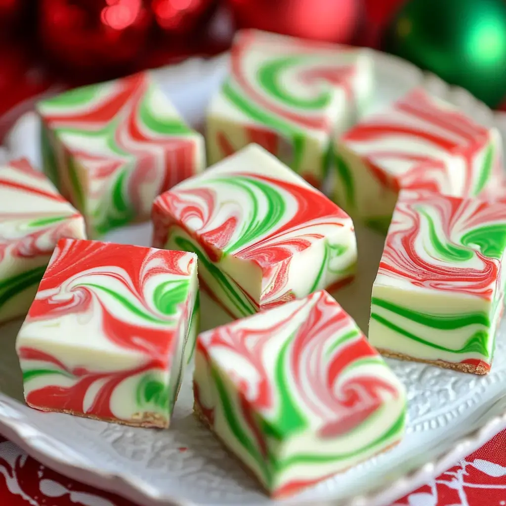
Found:
M 505 506 L 506 431 L 394 506 Z M 135 506 L 41 466 L 0 438 L 2 506 Z

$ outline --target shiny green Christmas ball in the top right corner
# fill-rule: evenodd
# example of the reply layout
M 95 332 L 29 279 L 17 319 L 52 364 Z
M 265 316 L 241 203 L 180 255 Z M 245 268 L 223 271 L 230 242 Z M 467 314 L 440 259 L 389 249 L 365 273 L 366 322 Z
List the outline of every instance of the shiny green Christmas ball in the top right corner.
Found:
M 505 0 L 408 0 L 385 33 L 384 49 L 490 107 L 506 97 Z

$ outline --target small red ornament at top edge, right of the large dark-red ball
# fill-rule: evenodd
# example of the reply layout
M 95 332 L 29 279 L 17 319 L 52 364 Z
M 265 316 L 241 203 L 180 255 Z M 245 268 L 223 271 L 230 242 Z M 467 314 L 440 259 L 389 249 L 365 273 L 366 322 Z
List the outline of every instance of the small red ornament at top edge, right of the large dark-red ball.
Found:
M 151 10 L 160 30 L 178 36 L 201 27 L 216 6 L 216 0 L 151 0 Z

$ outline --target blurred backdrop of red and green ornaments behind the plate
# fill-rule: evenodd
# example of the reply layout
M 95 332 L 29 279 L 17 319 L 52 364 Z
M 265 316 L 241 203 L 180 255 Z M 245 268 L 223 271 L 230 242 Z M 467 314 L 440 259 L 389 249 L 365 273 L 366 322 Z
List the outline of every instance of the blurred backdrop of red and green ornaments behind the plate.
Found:
M 506 0 L 0 0 L 0 143 L 42 95 L 218 54 L 239 27 L 387 51 L 506 110 Z

